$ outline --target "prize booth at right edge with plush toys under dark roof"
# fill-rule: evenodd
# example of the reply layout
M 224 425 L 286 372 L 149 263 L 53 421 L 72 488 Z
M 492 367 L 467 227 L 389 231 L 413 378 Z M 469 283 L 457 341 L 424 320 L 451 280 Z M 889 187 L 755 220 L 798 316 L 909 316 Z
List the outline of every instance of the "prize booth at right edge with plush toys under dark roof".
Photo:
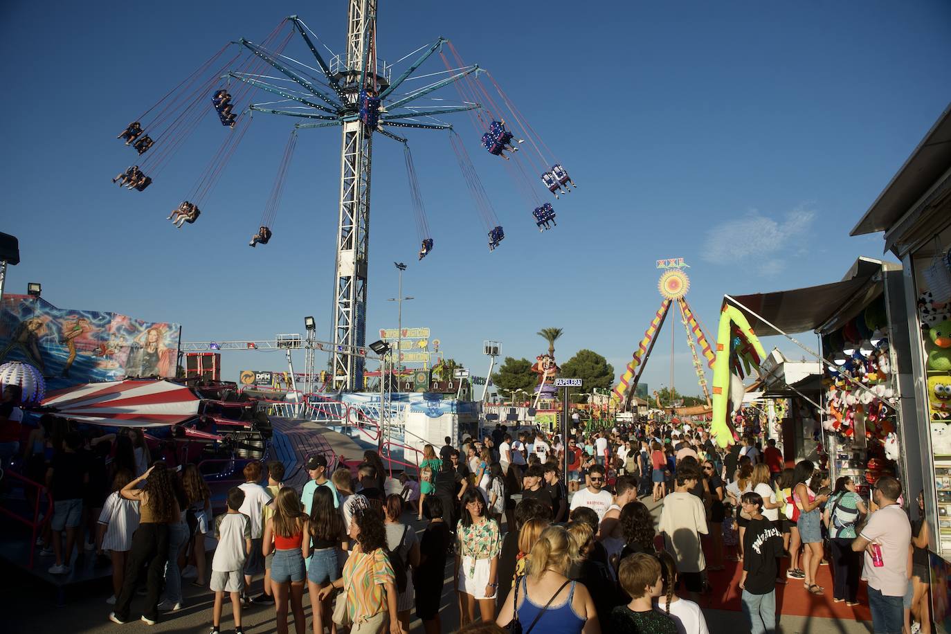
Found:
M 918 421 L 920 444 L 909 444 L 904 453 L 923 476 L 930 550 L 941 556 L 932 559 L 932 568 L 940 578 L 948 572 L 945 562 L 951 562 L 951 107 L 851 235 L 877 232 L 884 234 L 885 251 L 901 259 L 907 280 L 896 300 L 905 313 L 913 379 L 902 396 L 913 401 L 909 409 Z M 921 488 L 912 484 L 906 490 L 915 495 Z M 937 597 L 935 605 L 939 623 Z

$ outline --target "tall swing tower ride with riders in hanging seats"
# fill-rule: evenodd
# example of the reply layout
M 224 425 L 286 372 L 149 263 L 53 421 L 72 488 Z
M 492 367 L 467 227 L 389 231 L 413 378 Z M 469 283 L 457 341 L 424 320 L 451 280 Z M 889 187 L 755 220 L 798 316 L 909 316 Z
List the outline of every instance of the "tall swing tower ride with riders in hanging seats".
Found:
M 206 197 L 241 143 L 251 123 L 252 112 L 308 120 L 309 123 L 299 123 L 291 131 L 270 197 L 264 205 L 262 219 L 250 241 L 252 247 L 267 244 L 273 236 L 287 166 L 297 143 L 297 131 L 340 125 L 340 200 L 334 261 L 333 341 L 327 350 L 333 356 L 333 387 L 344 391 L 359 390 L 362 385 L 364 355 L 352 353 L 366 345 L 374 132 L 405 147 L 407 179 L 417 220 L 419 259 L 432 251 L 434 240 L 426 220 L 408 140 L 394 134 L 392 130 L 396 128 L 447 130 L 450 133 L 456 161 L 488 233 L 490 250 L 499 245 L 505 233 L 461 138 L 452 125 L 437 117 L 469 111 L 476 130 L 483 133 L 482 146 L 490 154 L 506 160 L 506 166 L 520 185 L 520 192 L 528 206 L 534 207 L 533 220 L 540 231 L 544 232 L 554 225 L 555 213 L 550 202 L 542 201 L 533 186 L 537 182 L 530 179 L 528 174 L 533 170 L 540 173 L 542 183 L 555 198 L 575 186 L 565 168 L 560 163 L 550 161 L 552 153 L 548 146 L 534 133 L 534 129 L 495 79 L 483 68 L 464 64 L 448 40 L 440 37 L 433 44 L 417 48 L 403 57 L 398 63 L 421 51 L 416 60 L 393 79 L 393 65 L 387 65 L 377 58 L 377 7 L 378 0 L 348 0 L 346 52 L 343 55 L 333 55 L 333 51 L 320 42 L 317 35 L 297 16 L 283 20 L 261 44 L 242 38 L 221 48 L 119 135 L 126 145 L 131 144 L 140 156 L 145 157 L 139 164 L 129 166 L 113 179 L 113 183 L 128 189 L 145 191 L 153 178 L 159 178 L 187 136 L 213 110 L 217 121 L 228 131 L 186 200 L 168 217 L 168 220 L 182 228 L 184 223 L 198 220 Z M 284 52 L 295 32 L 313 57 L 309 64 Z M 315 41 L 333 55 L 329 64 Z M 226 51 L 232 47 L 234 55 L 225 59 Z M 443 48 L 448 48 L 453 63 L 450 63 Z M 436 52 L 446 69 L 411 77 Z M 265 74 L 265 70 L 272 69 L 277 72 Z M 482 74 L 491 81 L 504 109 L 496 105 L 486 86 L 483 86 L 479 79 Z M 426 86 L 398 93 L 404 82 L 434 76 L 441 77 Z M 444 99 L 427 97 L 435 90 L 451 84 L 458 90 L 461 99 L 458 104 L 447 105 Z M 278 95 L 281 99 L 252 103 L 252 98 L 259 90 Z M 433 102 L 417 105 L 417 100 L 423 97 Z M 213 107 L 208 107 L 208 101 Z M 514 132 L 507 128 L 503 112 L 517 126 L 521 138 L 516 138 Z M 534 153 L 518 151 L 518 145 L 524 141 L 530 142 L 526 147 L 531 146 Z M 513 157 L 506 153 L 517 157 L 516 160 L 512 161 Z M 523 156 L 526 158 L 523 159 Z

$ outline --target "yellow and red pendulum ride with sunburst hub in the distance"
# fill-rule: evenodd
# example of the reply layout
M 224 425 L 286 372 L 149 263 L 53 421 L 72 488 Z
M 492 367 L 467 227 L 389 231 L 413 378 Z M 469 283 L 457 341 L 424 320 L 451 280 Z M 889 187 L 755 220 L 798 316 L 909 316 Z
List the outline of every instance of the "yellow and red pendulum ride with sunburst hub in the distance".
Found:
M 621 375 L 617 385 L 614 386 L 611 392 L 611 400 L 624 409 L 630 407 L 631 396 L 636 391 L 637 383 L 644 373 L 644 368 L 647 367 L 648 358 L 653 351 L 654 344 L 657 342 L 657 335 L 663 327 L 664 321 L 667 319 L 671 304 L 676 304 L 680 310 L 680 322 L 684 324 L 684 330 L 687 333 L 687 343 L 690 348 L 690 355 L 693 357 L 693 369 L 697 373 L 697 382 L 700 384 L 700 389 L 703 390 L 704 397 L 707 399 L 707 407 L 701 407 L 700 409 L 709 412 L 711 405 L 710 391 L 707 376 L 704 374 L 703 363 L 701 363 L 700 357 L 697 355 L 694 337 L 696 337 L 696 343 L 700 344 L 701 353 L 707 359 L 710 368 L 713 367 L 715 355 L 710 349 L 707 336 L 704 335 L 700 323 L 697 321 L 697 318 L 694 317 L 693 311 L 690 310 L 690 306 L 687 303 L 690 279 L 687 273 L 684 272 L 684 269 L 689 268 L 689 264 L 687 264 L 683 258 L 658 259 L 657 268 L 664 271 L 657 282 L 657 290 L 660 292 L 663 300 L 661 301 L 660 308 L 657 309 L 657 313 L 653 319 L 651 319 L 650 326 L 648 326 L 647 331 L 644 333 L 644 338 L 641 339 L 640 345 L 637 347 L 637 350 L 634 351 L 631 362 L 628 363 L 624 374 Z M 670 347 L 672 355 L 673 330 L 670 331 Z M 670 393 L 673 394 L 672 358 L 670 366 Z M 698 411 L 696 413 L 701 412 Z

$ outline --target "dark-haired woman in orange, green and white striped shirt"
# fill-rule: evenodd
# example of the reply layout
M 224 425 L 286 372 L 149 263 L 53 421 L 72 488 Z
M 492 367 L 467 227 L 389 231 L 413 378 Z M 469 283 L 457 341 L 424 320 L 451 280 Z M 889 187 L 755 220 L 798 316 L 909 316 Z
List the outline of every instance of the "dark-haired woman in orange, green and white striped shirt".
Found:
M 355 546 L 343 566 L 343 576 L 321 587 L 318 599 L 323 601 L 335 589 L 343 588 L 338 601 L 345 603 L 348 618 L 361 634 L 378 634 L 387 616 L 390 634 L 406 634 L 397 614 L 397 581 L 386 555 L 383 518 L 377 510 L 361 507 L 350 521 L 349 535 Z

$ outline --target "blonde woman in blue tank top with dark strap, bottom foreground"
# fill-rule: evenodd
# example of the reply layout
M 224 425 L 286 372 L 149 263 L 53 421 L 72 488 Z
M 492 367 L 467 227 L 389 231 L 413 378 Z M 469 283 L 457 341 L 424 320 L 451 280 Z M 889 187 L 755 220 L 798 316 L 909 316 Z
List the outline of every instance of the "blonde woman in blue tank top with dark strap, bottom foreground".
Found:
M 532 547 L 528 575 L 509 593 L 495 624 L 505 627 L 517 619 L 523 626 L 534 623 L 539 632 L 600 634 L 591 593 L 568 578 L 571 550 L 564 527 L 545 528 Z

